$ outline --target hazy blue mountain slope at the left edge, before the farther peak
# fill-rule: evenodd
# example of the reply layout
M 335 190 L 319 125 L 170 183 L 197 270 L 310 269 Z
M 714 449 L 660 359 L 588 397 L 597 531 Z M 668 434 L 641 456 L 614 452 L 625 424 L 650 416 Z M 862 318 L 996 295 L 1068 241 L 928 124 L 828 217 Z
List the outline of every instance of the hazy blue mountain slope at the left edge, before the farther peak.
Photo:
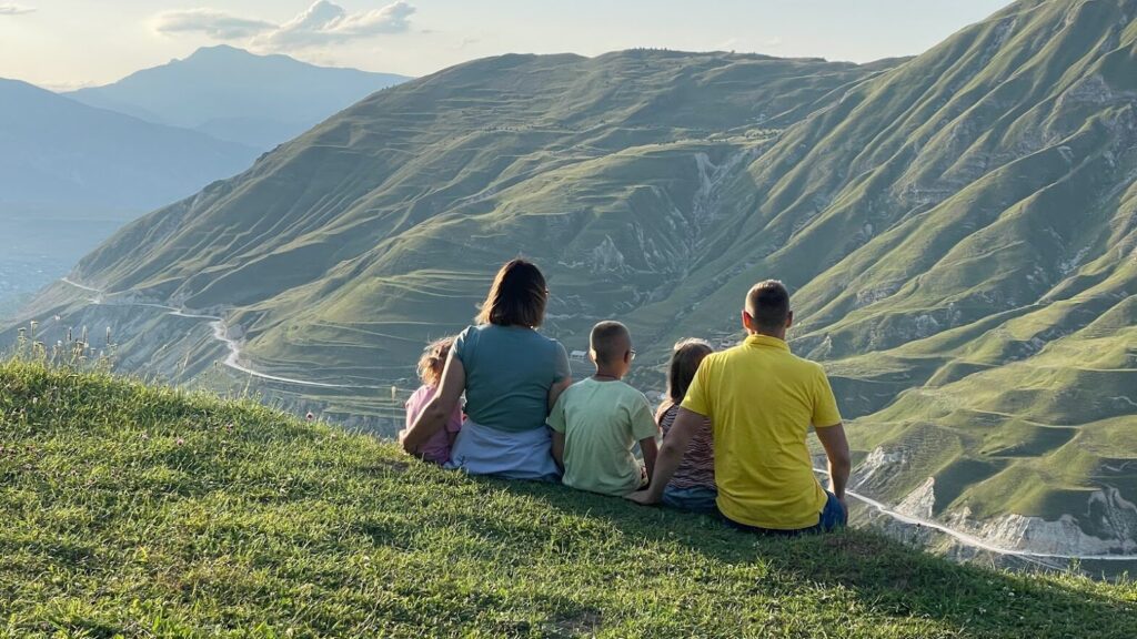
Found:
M 246 168 L 257 151 L 0 80 L 0 206 L 140 211 Z

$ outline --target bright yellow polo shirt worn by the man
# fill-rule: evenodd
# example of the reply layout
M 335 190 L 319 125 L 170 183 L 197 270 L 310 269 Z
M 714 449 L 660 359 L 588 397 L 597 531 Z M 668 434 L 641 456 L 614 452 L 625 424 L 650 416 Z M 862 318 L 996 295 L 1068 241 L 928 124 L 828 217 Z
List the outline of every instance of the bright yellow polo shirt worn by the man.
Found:
M 820 364 L 778 338 L 750 335 L 703 360 L 682 406 L 711 420 L 723 515 L 774 530 L 818 524 L 827 497 L 805 438 L 811 424 L 841 421 Z

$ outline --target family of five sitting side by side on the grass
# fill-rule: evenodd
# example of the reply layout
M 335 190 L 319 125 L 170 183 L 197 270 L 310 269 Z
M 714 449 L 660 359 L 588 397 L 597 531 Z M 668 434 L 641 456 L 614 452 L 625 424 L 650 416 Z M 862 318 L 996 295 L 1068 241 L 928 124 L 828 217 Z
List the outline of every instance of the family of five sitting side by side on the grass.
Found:
M 754 532 L 845 525 L 848 442 L 824 371 L 786 345 L 794 314 L 780 282 L 750 289 L 741 345 L 722 352 L 702 340 L 675 345 L 667 399 L 654 415 L 644 393 L 621 381 L 636 358 L 628 329 L 592 329 L 596 374 L 573 384 L 564 347 L 537 332 L 547 300 L 537 266 L 512 260 L 478 324 L 428 347 L 423 387 L 399 433 L 407 453 L 471 474 L 563 481 L 715 513 Z M 829 458 L 829 490 L 814 475 L 810 426 Z

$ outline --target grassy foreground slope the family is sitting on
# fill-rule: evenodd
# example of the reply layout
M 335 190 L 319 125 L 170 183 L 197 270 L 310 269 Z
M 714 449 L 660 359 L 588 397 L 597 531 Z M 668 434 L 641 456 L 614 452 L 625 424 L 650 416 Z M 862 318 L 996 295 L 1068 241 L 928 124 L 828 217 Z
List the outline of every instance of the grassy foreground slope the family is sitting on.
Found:
M 0 364 L 0 634 L 1128 637 L 1137 588 L 761 539 L 103 374 Z

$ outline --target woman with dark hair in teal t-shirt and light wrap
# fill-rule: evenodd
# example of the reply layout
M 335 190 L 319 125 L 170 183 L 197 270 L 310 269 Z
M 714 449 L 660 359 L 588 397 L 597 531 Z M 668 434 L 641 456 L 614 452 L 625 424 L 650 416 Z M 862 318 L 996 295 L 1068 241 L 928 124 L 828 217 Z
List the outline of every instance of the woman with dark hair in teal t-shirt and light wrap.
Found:
M 408 453 L 442 430 L 465 392 L 466 421 L 448 468 L 559 479 L 546 418 L 572 377 L 564 347 L 537 332 L 548 294 L 532 263 L 514 259 L 498 271 L 478 324 L 450 349 L 438 395 L 401 438 Z

